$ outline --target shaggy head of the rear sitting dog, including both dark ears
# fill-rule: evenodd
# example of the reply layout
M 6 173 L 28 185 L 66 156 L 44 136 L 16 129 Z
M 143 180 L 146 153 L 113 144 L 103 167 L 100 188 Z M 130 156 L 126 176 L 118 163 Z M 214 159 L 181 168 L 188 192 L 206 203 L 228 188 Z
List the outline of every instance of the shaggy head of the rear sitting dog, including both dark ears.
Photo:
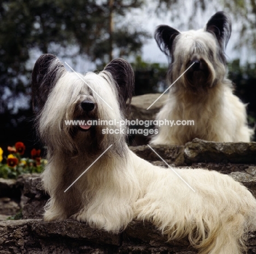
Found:
M 193 64 L 181 78 L 188 89 L 198 92 L 222 81 L 226 65 L 224 49 L 230 34 L 230 17 L 222 11 L 214 14 L 199 31 L 179 32 L 166 25 L 159 26 L 155 40 L 170 61 L 168 79 L 173 82 Z

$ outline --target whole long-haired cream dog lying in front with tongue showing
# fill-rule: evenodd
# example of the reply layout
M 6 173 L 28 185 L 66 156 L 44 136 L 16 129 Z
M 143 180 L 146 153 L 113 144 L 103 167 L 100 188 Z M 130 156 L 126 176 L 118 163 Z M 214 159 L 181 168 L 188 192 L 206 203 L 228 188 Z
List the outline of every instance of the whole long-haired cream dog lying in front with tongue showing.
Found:
M 245 232 L 256 226 L 256 202 L 245 186 L 218 172 L 177 169 L 194 192 L 170 168 L 131 152 L 125 132 L 103 134 L 103 128 L 120 129 L 132 88 L 132 68 L 122 59 L 99 74 L 77 76 L 53 55 L 39 57 L 32 95 L 48 148 L 42 180 L 50 199 L 44 220 L 72 216 L 110 232 L 133 219 L 147 220 L 168 240 L 188 237 L 201 254 L 242 253 Z M 72 119 L 107 121 L 105 126 L 65 124 Z

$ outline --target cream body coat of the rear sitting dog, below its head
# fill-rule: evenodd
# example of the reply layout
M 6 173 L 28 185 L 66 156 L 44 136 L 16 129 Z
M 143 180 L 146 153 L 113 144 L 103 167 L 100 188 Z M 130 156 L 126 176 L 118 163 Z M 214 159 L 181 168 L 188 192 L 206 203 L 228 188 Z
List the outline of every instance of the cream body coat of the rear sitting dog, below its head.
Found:
M 205 95 L 204 95 L 205 96 Z M 194 125 L 162 125 L 152 144 L 179 144 L 194 138 L 217 142 L 249 142 L 253 130 L 247 126 L 246 106 L 232 94 L 229 83 L 208 91 L 201 102 L 185 101 L 182 94 L 170 93 L 157 120 L 194 120 Z

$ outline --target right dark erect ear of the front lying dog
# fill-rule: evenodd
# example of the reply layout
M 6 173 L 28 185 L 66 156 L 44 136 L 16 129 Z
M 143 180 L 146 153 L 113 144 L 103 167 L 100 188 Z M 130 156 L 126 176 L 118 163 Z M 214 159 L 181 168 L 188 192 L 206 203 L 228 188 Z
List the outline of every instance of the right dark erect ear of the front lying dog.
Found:
M 110 72 L 118 84 L 120 108 L 124 111 L 129 110 L 135 84 L 132 66 L 124 59 L 117 58 L 112 60 L 104 71 Z

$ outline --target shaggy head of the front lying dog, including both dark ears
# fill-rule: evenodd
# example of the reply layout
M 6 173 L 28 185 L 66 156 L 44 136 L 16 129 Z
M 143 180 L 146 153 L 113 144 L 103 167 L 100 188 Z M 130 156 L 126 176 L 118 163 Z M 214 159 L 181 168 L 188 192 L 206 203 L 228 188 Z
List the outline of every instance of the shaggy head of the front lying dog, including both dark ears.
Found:
M 65 121 L 127 117 L 134 74 L 125 60 L 114 59 L 99 74 L 83 76 L 66 71 L 58 58 L 45 54 L 34 65 L 31 87 L 39 133 L 50 150 L 95 154 L 115 143 L 121 154 L 126 135 L 102 135 L 102 128 L 117 126 L 66 125 Z

